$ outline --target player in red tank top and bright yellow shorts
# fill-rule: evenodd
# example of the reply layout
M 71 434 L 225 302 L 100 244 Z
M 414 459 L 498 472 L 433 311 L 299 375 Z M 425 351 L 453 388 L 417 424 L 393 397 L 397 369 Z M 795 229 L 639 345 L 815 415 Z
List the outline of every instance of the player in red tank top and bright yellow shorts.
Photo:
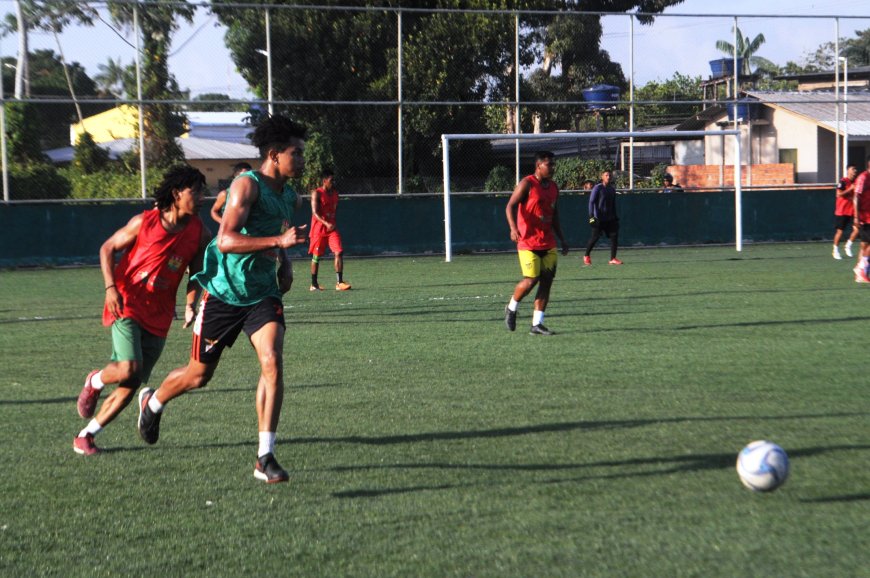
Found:
M 550 301 L 550 288 L 556 277 L 556 236 L 562 243 L 562 255 L 568 254 L 568 243 L 559 224 L 559 187 L 553 182 L 553 153 L 535 153 L 535 173 L 523 178 L 508 200 L 505 214 L 511 230 L 511 241 L 517 244 L 523 278 L 514 288 L 504 309 L 507 328 L 517 328 L 517 307 L 531 290 L 535 294 L 532 314 L 532 335 L 553 335 L 544 326 L 544 311 Z M 555 234 L 555 235 L 554 235 Z

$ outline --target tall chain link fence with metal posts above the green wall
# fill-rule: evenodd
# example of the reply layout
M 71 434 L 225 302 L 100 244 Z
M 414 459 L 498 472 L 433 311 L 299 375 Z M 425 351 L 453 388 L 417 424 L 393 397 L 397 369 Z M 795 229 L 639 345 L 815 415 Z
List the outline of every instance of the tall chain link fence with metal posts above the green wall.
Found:
M 0 44 L 7 202 L 142 198 L 182 159 L 217 192 L 257 162 L 246 135 L 270 112 L 310 129 L 298 186 L 329 165 L 345 194 L 441 192 L 445 133 L 636 134 L 457 142 L 454 192 L 510 191 L 542 148 L 567 190 L 612 167 L 633 191 L 666 172 L 727 187 L 735 162 L 749 186 L 829 185 L 870 152 L 870 18 L 4 4 L 23 16 Z M 679 134 L 726 127 L 743 158 Z

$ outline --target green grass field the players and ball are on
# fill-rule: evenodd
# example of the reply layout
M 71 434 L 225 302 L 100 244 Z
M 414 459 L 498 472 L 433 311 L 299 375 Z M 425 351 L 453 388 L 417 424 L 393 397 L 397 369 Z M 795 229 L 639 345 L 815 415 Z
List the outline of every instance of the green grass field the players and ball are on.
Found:
M 870 576 L 870 289 L 828 251 L 573 253 L 553 337 L 530 299 L 504 328 L 515 255 L 349 258 L 322 294 L 297 263 L 276 486 L 243 339 L 157 445 L 130 407 L 74 454 L 99 271 L 0 272 L 0 575 Z M 774 493 L 734 471 L 754 439 L 791 457 Z

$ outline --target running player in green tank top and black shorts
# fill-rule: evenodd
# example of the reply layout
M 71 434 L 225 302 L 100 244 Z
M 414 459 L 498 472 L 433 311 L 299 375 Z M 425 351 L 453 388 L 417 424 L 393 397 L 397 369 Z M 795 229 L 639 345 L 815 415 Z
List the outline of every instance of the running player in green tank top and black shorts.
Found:
M 202 271 L 194 277 L 204 292 L 190 361 L 173 370 L 156 391 L 143 388 L 139 393 L 139 435 L 154 444 L 166 404 L 205 386 L 224 348 L 244 331 L 260 362 L 254 477 L 267 483 L 289 479 L 274 455 L 284 399 L 281 295 L 289 288 L 285 250 L 306 241 L 306 225 L 290 226 L 297 195 L 287 184 L 288 179 L 302 176 L 305 133 L 303 126 L 278 115 L 254 131 L 251 141 L 260 150 L 262 164 L 230 185 L 220 229 L 205 250 Z

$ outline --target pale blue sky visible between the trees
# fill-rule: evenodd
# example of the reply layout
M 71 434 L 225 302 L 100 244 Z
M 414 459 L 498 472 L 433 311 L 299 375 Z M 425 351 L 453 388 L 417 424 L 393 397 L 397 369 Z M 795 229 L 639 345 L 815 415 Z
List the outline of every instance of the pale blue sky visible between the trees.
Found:
M 12 0 L 0 0 L 0 13 L 13 13 Z M 678 15 L 698 14 L 697 18 Z M 833 41 L 833 18 L 807 18 L 812 15 L 839 16 L 840 37 L 853 37 L 857 30 L 870 28 L 868 0 L 686 0 L 670 8 L 651 26 L 634 24 L 634 73 L 640 86 L 651 80 L 665 80 L 674 72 L 690 76 L 709 76 L 709 60 L 720 58 L 717 40 L 733 42 L 732 15 L 746 15 L 739 20 L 744 36 L 754 38 L 763 33 L 766 42 L 758 51 L 776 64 L 792 60 L 801 62 L 807 53 L 822 43 Z M 771 15 L 791 15 L 796 18 L 774 18 Z M 767 17 L 751 17 L 762 15 Z M 858 18 L 856 18 L 858 17 Z M 611 59 L 622 65 L 626 76 L 630 71 L 629 18 L 605 17 L 602 48 Z M 98 65 L 108 58 L 133 61 L 132 35 L 115 31 L 109 24 L 98 22 L 93 28 L 75 28 L 63 32 L 61 46 L 69 61 L 79 62 L 88 74 L 99 72 Z M 184 25 L 173 38 L 170 70 L 182 88 L 191 95 L 222 93 L 232 98 L 248 99 L 252 94 L 236 72 L 229 51 L 224 46 L 224 29 L 215 16 L 199 9 L 193 25 Z M 31 50 L 50 48 L 58 51 L 53 35 L 35 31 L 30 37 Z M 0 54 L 14 55 L 17 39 L 0 39 Z M 9 90 L 7 88 L 7 90 Z

